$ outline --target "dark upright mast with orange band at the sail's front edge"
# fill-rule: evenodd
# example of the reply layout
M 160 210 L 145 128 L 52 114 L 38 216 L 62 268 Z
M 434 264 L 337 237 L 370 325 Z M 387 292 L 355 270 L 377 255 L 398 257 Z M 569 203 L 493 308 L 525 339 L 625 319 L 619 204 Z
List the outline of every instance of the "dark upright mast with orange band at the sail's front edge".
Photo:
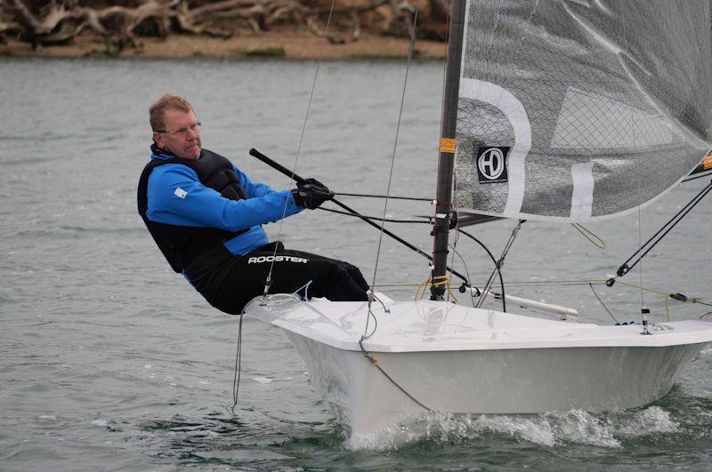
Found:
M 455 164 L 455 131 L 457 126 L 457 96 L 460 87 L 462 44 L 465 30 L 465 0 L 452 0 L 450 9 L 448 64 L 445 68 L 445 94 L 442 98 L 442 125 L 438 181 L 435 190 L 438 203 L 433 229 L 433 286 L 431 300 L 441 300 L 445 285 L 437 284 L 446 275 L 448 264 L 448 233 L 452 210 L 452 172 Z

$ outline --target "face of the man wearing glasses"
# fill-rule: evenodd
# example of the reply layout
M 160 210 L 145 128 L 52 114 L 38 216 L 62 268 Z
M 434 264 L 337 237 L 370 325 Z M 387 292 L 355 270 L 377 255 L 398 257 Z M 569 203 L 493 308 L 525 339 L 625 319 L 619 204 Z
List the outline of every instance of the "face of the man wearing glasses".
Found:
M 183 159 L 198 159 L 203 141 L 198 119 L 192 111 L 168 108 L 163 114 L 163 125 L 163 132 L 153 133 L 153 140 L 160 148 Z

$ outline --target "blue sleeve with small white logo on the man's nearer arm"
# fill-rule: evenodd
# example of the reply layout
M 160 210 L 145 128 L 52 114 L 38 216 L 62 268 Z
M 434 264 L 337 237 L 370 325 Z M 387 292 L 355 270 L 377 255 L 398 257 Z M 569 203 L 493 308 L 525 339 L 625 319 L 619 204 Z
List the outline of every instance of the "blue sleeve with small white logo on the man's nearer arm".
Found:
M 198 174 L 189 167 L 161 165 L 150 173 L 146 214 L 157 223 L 239 231 L 303 210 L 289 190 L 275 192 L 266 185 L 252 186 L 254 197 L 230 200 L 200 183 Z M 269 191 L 265 192 L 265 188 Z

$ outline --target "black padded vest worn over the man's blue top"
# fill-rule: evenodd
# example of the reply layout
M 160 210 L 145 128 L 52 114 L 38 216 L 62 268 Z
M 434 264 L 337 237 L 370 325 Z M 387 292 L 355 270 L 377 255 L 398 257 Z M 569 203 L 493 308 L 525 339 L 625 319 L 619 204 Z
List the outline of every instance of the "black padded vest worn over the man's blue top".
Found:
M 154 153 L 165 152 L 156 144 L 151 146 Z M 231 162 L 223 156 L 207 149 L 200 151 L 198 159 L 183 159 L 171 157 L 170 159 L 151 159 L 143 168 L 138 187 L 138 211 L 150 236 L 158 244 L 158 248 L 166 256 L 166 260 L 175 272 L 182 272 L 190 267 L 191 262 L 200 260 L 200 266 L 217 265 L 229 259 L 232 254 L 224 242 L 247 233 L 249 229 L 237 232 L 226 231 L 219 228 L 196 228 L 190 226 L 169 225 L 149 220 L 146 215 L 149 206 L 148 188 L 150 172 L 160 165 L 182 164 L 198 174 L 200 183 L 208 188 L 213 188 L 225 198 L 231 200 L 247 200 L 245 189 L 239 183 L 238 174 Z

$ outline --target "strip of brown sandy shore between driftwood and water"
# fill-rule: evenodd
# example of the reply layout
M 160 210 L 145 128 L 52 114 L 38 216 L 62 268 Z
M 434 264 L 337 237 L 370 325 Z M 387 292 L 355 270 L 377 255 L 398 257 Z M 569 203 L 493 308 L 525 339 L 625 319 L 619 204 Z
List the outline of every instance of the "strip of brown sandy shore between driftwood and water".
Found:
M 259 36 L 234 36 L 229 39 L 206 36 L 172 35 L 166 39 L 142 37 L 142 50 L 125 48 L 110 51 L 101 36 L 79 36 L 72 44 L 42 46 L 11 39 L 0 44 L 0 55 L 11 57 L 120 57 L 146 59 L 175 58 L 250 58 L 271 57 L 296 60 L 406 59 L 410 40 L 364 34 L 356 41 L 332 44 L 311 33 L 268 32 Z M 443 60 L 446 44 L 418 40 L 414 58 Z

